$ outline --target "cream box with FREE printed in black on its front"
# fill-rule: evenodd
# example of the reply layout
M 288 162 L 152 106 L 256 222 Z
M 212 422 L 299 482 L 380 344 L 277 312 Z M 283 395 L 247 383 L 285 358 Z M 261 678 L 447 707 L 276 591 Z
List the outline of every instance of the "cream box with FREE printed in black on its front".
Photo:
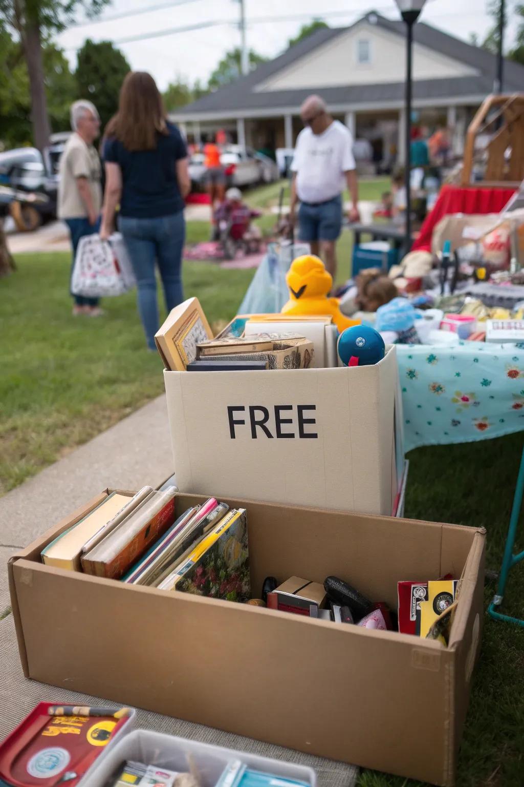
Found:
M 164 371 L 179 490 L 390 515 L 395 352 L 354 368 Z

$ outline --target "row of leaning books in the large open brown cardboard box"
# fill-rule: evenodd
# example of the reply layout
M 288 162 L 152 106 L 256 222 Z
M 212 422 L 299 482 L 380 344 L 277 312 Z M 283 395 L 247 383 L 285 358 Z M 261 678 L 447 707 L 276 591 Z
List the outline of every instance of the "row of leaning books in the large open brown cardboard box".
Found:
M 210 497 L 175 515 L 175 486 L 112 492 L 42 550 L 46 565 L 131 585 L 250 597 L 247 514 Z

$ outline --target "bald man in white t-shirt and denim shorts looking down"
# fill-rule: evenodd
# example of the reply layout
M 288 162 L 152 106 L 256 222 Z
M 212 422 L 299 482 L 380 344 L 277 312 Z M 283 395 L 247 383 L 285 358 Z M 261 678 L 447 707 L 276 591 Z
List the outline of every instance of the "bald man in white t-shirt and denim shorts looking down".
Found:
M 305 128 L 297 139 L 291 164 L 290 218 L 294 223 L 299 200 L 299 238 L 310 243 L 311 252 L 322 257 L 335 279 L 335 245 L 342 230 L 346 185 L 351 195 L 350 221 L 359 219 L 353 137 L 339 120 L 333 120 L 320 96 L 306 98 L 300 116 Z

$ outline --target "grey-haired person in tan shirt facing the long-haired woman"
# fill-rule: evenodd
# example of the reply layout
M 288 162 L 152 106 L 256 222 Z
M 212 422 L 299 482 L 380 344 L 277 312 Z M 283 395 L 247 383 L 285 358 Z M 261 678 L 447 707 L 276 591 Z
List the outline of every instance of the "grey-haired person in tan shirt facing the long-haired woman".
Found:
M 100 131 L 100 118 L 91 102 L 77 101 L 71 105 L 71 128 L 73 133 L 60 158 L 58 218 L 64 220 L 71 234 L 72 275 L 80 238 L 93 235 L 100 227 L 101 164 L 93 146 Z M 98 298 L 81 295 L 73 298 L 73 314 L 101 315 Z

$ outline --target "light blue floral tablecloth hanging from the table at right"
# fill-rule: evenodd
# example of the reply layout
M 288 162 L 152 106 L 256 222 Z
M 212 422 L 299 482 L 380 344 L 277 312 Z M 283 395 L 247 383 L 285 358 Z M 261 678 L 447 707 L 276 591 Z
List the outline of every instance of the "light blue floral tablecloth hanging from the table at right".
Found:
M 524 430 L 524 344 L 397 345 L 405 451 Z

